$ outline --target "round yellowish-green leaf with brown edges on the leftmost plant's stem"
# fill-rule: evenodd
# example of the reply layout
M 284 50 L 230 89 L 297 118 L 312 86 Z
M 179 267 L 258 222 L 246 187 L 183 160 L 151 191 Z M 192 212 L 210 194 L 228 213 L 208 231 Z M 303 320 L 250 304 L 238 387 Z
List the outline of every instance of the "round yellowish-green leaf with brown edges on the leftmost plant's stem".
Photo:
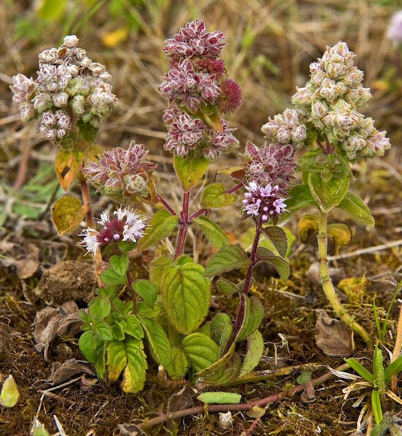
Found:
M 52 206 L 52 222 L 59 236 L 72 232 L 78 227 L 88 207 L 70 195 L 56 200 Z

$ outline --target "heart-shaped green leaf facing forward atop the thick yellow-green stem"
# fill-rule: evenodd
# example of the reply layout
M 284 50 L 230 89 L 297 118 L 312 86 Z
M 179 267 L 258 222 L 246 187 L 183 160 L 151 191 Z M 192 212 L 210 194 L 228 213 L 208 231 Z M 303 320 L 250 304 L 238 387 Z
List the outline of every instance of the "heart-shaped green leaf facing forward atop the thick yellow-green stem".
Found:
M 310 173 L 308 181 L 310 192 L 324 213 L 328 213 L 335 206 L 338 206 L 349 188 L 348 178 L 334 178 L 325 182 L 320 174 Z

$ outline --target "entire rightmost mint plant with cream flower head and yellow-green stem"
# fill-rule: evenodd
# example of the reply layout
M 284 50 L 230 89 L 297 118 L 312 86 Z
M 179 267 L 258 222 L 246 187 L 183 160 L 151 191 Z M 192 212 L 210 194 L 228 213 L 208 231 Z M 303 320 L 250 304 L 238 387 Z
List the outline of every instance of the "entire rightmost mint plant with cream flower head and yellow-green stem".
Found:
M 359 158 L 383 156 L 390 148 L 386 132 L 378 131 L 374 120 L 357 110 L 371 94 L 361 84 L 363 72 L 354 66 L 354 57 L 344 42 L 327 47 L 323 57 L 310 65 L 306 86 L 296 88 L 292 96 L 296 109 L 269 118 L 262 131 L 274 143 L 294 141 L 310 149 L 298 162 L 304 183 L 290 189 L 287 208 L 317 207 L 324 292 L 335 313 L 369 345 L 368 333 L 339 301 L 327 268 L 327 220 L 332 209 L 344 210 L 358 223 L 374 225 L 367 206 L 349 192 L 353 179 L 349 164 Z

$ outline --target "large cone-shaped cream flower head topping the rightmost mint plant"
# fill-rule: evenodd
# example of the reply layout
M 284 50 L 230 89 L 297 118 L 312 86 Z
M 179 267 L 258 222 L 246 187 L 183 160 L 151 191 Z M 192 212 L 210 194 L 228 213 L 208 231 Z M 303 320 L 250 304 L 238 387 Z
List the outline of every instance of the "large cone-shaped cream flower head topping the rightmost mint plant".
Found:
M 354 57 L 345 42 L 327 46 L 323 57 L 310 64 L 310 81 L 296 87 L 291 99 L 316 129 L 318 140 L 340 147 L 351 162 L 382 156 L 390 148 L 386 132 L 375 129 L 372 118 L 357 110 L 371 93 L 361 84 L 363 72 L 354 66 Z

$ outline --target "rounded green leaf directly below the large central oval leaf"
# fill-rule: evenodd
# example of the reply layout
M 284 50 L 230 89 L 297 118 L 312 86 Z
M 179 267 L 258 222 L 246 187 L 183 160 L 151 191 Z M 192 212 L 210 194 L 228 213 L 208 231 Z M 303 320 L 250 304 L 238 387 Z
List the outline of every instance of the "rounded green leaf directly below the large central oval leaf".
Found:
M 208 368 L 219 359 L 218 344 L 201 333 L 186 336 L 182 348 L 194 372 Z

